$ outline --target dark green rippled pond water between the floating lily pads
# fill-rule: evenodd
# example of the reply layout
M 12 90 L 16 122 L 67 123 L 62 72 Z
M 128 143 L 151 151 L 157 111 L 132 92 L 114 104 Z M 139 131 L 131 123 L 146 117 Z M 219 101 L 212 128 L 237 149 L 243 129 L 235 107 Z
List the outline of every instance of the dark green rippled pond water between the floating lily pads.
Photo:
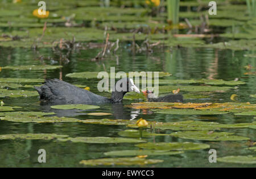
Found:
M 216 78 L 223 80 L 234 80 L 240 78 L 245 85 L 226 93 L 205 93 L 209 94 L 208 99 L 190 99 L 185 102 L 230 102 L 230 95 L 237 94 L 238 102 L 256 103 L 256 98 L 250 98 L 249 94 L 256 94 L 255 76 L 243 75 L 246 70 L 243 66 L 251 64 L 256 66 L 255 58 L 244 57 L 252 53 L 250 51 L 230 51 L 207 48 L 157 48 L 154 53 L 136 53 L 123 44 L 117 55 L 108 55 L 101 61 L 91 61 L 101 49 L 88 49 L 75 51 L 67 56 L 67 60 L 61 62 L 62 69 L 56 70 L 2 70 L 0 77 L 12 78 L 63 78 L 64 81 L 72 84 L 88 85 L 94 93 L 110 97 L 109 93 L 97 91 L 95 79 L 76 79 L 65 77 L 65 74 L 84 71 L 107 71 L 110 66 L 115 66 L 118 71 L 164 71 L 172 73 L 171 79 L 201 79 Z M 125 48 L 126 47 L 126 48 Z M 0 47 L 0 66 L 6 65 L 31 65 L 31 64 L 60 64 L 60 55 L 53 52 L 51 48 L 42 48 L 38 51 L 23 48 L 2 48 Z M 118 60 L 117 60 L 118 57 Z M 44 59 L 44 60 L 42 60 Z M 26 89 L 27 90 L 27 89 Z M 182 92 L 185 94 L 186 92 Z M 187 92 L 188 93 L 188 92 Z M 204 94 L 202 92 L 201 94 Z M 40 104 L 39 97 L 29 98 L 3 98 L 6 105 L 22 106 L 23 111 L 44 111 L 48 112 L 49 107 Z M 113 113 L 109 116 L 90 116 L 79 113 L 67 113 L 57 111 L 58 116 L 72 116 L 77 119 L 131 119 L 143 118 L 158 122 L 176 122 L 182 120 L 212 121 L 225 124 L 253 122 L 252 116 L 225 115 L 164 115 L 145 114 L 141 110 L 133 110 L 129 105 L 130 100 L 123 101 L 123 105 L 101 105 L 97 112 Z M 93 113 L 94 110 L 89 111 Z M 100 124 L 82 123 L 16 123 L 5 120 L 0 121 L 0 134 L 26 134 L 26 133 L 55 133 L 65 134 L 71 137 L 76 136 L 110 136 L 119 137 L 118 132 L 127 129 L 126 126 L 108 126 Z M 221 131 L 235 132 L 238 136 L 245 136 L 255 140 L 255 131 L 251 128 L 221 129 Z M 159 131 L 170 134 L 174 131 Z M 175 138 L 172 136 L 155 136 L 147 138 L 148 141 L 175 142 L 193 141 L 206 143 L 210 148 L 217 150 L 217 157 L 229 155 L 253 155 L 253 151 L 245 149 L 247 141 L 199 141 Z M 46 149 L 47 161 L 44 164 L 38 163 L 38 150 Z M 138 149 L 134 144 L 86 144 L 57 142 L 54 140 L 0 140 L 0 166 L 17 167 L 47 167 L 47 166 L 83 166 L 79 161 L 86 159 L 104 158 L 104 152 L 125 149 Z M 255 166 L 229 163 L 209 163 L 209 149 L 196 151 L 185 151 L 181 155 L 174 156 L 148 156 L 149 159 L 162 159 L 163 163 L 146 165 L 154 167 L 194 167 L 194 166 Z M 135 165 L 134 165 L 135 166 Z

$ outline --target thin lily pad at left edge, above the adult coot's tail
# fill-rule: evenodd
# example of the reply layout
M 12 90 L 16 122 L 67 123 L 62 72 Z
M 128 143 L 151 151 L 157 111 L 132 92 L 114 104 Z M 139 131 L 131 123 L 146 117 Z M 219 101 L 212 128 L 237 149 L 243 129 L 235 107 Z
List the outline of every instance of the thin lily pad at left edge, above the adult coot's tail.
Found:
M 61 65 L 20 65 L 20 66 L 3 66 L 2 69 L 12 70 L 44 70 L 62 68 Z

